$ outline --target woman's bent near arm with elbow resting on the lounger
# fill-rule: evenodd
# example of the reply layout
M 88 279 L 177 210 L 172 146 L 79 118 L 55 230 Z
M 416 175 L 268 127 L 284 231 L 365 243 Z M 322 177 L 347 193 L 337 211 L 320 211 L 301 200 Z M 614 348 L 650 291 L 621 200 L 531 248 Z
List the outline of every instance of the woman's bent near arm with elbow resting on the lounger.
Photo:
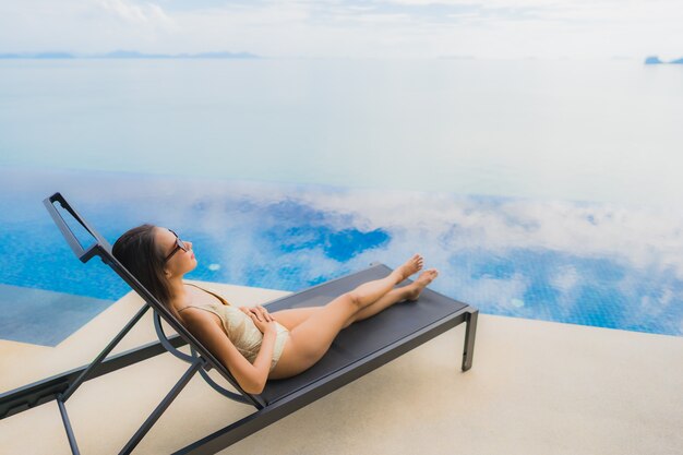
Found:
M 230 371 L 244 392 L 263 392 L 271 370 L 276 330 L 268 330 L 263 335 L 261 350 L 251 364 L 223 331 L 217 315 L 195 309 L 183 312 L 183 316 L 188 330 Z

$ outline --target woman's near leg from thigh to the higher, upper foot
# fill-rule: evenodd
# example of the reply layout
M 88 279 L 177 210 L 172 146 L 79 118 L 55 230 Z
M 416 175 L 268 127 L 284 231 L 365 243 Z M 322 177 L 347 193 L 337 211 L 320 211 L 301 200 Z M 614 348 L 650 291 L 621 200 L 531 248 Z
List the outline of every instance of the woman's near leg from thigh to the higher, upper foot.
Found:
M 422 267 L 422 256 L 416 254 L 387 277 L 364 283 L 332 300 L 320 311 L 314 311 L 305 321 L 293 327 L 279 362 L 287 364 L 291 374 L 312 367 L 329 349 L 329 345 L 349 319 L 360 310 L 379 301 L 395 285 Z M 278 363 L 279 363 L 278 362 Z

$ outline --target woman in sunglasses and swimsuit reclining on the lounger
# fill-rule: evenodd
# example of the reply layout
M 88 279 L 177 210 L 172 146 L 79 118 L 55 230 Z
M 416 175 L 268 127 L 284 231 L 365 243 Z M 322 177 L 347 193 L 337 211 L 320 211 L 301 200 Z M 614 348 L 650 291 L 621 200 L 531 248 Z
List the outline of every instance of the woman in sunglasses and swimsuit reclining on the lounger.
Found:
M 183 282 L 196 267 L 192 242 L 166 228 L 143 225 L 123 234 L 113 255 L 223 362 L 244 392 L 260 394 L 268 379 L 311 368 L 339 331 L 403 301 L 415 301 L 438 275 L 423 272 L 412 284 L 394 286 L 422 268 L 410 258 L 387 277 L 368 282 L 324 307 L 268 311 L 236 308 L 219 295 Z

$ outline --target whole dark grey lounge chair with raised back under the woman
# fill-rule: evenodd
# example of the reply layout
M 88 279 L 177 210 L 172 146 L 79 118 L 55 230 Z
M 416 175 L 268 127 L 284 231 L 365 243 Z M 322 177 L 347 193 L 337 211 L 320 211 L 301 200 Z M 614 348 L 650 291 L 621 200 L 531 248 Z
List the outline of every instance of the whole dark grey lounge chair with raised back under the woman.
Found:
M 84 381 L 165 351 L 187 361 L 190 363 L 190 367 L 121 450 L 121 454 L 129 454 L 133 451 L 170 403 L 188 384 L 190 379 L 197 372 L 217 393 L 236 402 L 251 405 L 256 410 L 245 418 L 230 423 L 221 430 L 180 448 L 176 454 L 209 454 L 218 452 L 463 322 L 467 323 L 465 349 L 463 354 L 463 371 L 469 370 L 472 364 L 478 310 L 431 289 L 426 289 L 420 296 L 419 304 L 398 303 L 373 318 L 359 321 L 343 330 L 328 352 L 311 369 L 290 379 L 268 381 L 265 390 L 260 395 L 245 393 L 230 374 L 229 370 L 202 346 L 202 344 L 200 344 L 196 338 L 194 338 L 194 336 L 111 255 L 111 247 L 109 243 L 71 207 L 60 193 L 55 193 L 46 199 L 44 203 L 71 249 L 82 262 L 87 262 L 94 256 L 99 256 L 123 278 L 146 303 L 89 366 L 68 371 L 0 395 L 0 418 L 56 399 L 71 450 L 74 454 L 79 453 L 79 448 L 64 404 L 76 388 Z M 58 211 L 56 203 L 59 203 L 63 209 Z M 73 220 L 80 224 L 94 238 L 95 242 L 87 248 L 83 248 L 73 230 L 65 223 L 62 213 L 68 213 Z M 266 304 L 271 311 L 297 307 L 323 306 L 334 297 L 351 290 L 357 285 L 370 279 L 384 277 L 390 272 L 391 268 L 385 265 L 372 265 L 364 271 L 314 286 Z M 106 357 L 111 349 L 113 349 L 149 308 L 154 310 L 153 319 L 159 343 L 151 343 L 107 359 Z M 175 330 L 177 335 L 167 336 L 164 333 L 161 320 Z M 178 350 L 178 347 L 185 344 L 190 346 L 191 355 Z M 206 371 L 212 368 L 220 373 L 235 391 L 225 388 L 209 378 Z

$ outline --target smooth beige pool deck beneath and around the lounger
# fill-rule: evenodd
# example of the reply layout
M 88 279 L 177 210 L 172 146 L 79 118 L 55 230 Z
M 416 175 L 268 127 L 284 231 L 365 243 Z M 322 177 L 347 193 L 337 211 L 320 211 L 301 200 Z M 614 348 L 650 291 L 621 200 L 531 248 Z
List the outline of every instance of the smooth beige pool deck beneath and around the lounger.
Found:
M 240 306 L 287 294 L 211 286 Z M 0 340 L 0 392 L 88 363 L 141 302 L 127 295 L 56 347 Z M 145 318 L 116 352 L 156 339 Z M 482 314 L 463 373 L 464 335 L 462 324 L 220 453 L 683 453 L 683 337 Z M 67 402 L 81 452 L 118 453 L 184 370 L 164 354 L 86 382 Z M 171 453 L 252 411 L 197 375 L 134 453 Z M 71 453 L 55 402 L 0 420 L 0 441 L 3 454 Z

